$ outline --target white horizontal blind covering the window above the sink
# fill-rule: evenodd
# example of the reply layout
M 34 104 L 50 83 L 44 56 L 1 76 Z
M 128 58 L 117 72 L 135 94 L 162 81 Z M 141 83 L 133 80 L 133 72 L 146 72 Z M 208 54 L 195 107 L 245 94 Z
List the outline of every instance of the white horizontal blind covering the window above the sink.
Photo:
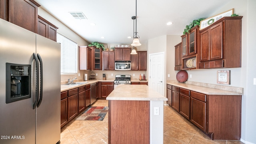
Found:
M 57 42 L 61 46 L 61 74 L 77 74 L 78 44 L 59 33 L 57 33 Z

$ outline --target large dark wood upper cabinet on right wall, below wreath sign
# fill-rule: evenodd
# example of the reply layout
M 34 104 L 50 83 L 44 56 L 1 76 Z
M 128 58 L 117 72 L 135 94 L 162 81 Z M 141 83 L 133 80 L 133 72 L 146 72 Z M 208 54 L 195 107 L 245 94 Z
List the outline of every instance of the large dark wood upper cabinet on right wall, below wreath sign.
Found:
M 200 31 L 200 68 L 241 67 L 242 16 L 223 17 Z

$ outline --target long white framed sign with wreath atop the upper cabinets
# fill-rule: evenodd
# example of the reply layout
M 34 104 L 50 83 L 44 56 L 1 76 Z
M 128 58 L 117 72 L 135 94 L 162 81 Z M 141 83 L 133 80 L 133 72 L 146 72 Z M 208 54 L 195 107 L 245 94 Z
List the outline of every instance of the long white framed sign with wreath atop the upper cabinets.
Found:
M 224 16 L 231 16 L 232 14 L 234 14 L 234 8 L 232 8 L 231 10 L 227 10 L 226 12 L 222 12 L 221 14 L 218 14 L 216 16 L 212 16 L 210 18 L 206 18 L 205 20 L 201 20 L 199 30 L 207 28 L 208 26 L 210 26 L 217 20 L 223 18 Z

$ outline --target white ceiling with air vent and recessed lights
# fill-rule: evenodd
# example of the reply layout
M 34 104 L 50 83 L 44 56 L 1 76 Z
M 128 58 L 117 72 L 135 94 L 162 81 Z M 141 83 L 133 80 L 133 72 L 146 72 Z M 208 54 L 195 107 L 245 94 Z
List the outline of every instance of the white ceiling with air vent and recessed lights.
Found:
M 231 0 L 137 0 L 140 43 L 162 35 L 182 35 L 186 25 L 208 18 Z M 88 42 L 131 44 L 136 0 L 36 0 L 41 8 Z M 82 12 L 87 20 L 69 12 Z M 173 22 L 172 25 L 166 25 Z M 96 26 L 91 26 L 94 23 Z M 101 37 L 105 38 L 101 38 Z

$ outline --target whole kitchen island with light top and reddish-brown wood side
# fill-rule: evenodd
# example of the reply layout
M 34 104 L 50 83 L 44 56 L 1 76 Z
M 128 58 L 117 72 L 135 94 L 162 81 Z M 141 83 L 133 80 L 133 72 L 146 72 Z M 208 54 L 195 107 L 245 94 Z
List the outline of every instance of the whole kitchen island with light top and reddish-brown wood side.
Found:
M 118 85 L 108 95 L 109 144 L 162 144 L 168 99 L 146 85 Z

